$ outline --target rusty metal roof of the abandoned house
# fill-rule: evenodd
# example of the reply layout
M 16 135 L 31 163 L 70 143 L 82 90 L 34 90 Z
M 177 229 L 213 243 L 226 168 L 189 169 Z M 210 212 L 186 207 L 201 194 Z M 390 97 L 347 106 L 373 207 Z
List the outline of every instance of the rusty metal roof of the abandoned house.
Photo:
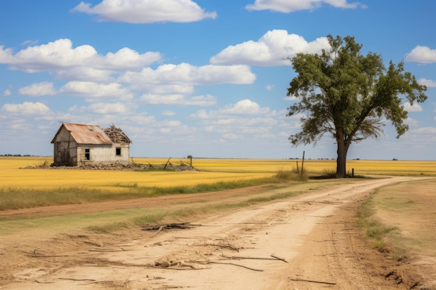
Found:
M 109 139 L 103 129 L 98 125 L 73 124 L 66 122 L 62 123 L 62 126 L 54 136 L 52 143 L 54 143 L 54 140 L 62 127 L 65 127 L 65 129 L 70 132 L 72 138 L 74 138 L 77 144 L 112 144 L 111 139 Z

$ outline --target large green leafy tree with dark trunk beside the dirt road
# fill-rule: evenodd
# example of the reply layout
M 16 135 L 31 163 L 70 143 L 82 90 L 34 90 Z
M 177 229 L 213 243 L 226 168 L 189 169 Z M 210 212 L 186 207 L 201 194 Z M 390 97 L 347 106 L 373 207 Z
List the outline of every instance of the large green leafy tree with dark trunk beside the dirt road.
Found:
M 345 177 L 351 143 L 379 138 L 383 118 L 391 121 L 399 138 L 409 129 L 401 102 L 424 102 L 427 88 L 405 72 L 403 63 L 391 61 L 385 67 L 379 54 L 362 55 L 354 37 L 327 38 L 330 47 L 321 54 L 301 53 L 290 59 L 297 76 L 290 81 L 288 96 L 297 102 L 288 108 L 288 116 L 302 115 L 302 128 L 289 140 L 294 147 L 316 145 L 324 134 L 332 134 L 338 154 L 336 175 Z

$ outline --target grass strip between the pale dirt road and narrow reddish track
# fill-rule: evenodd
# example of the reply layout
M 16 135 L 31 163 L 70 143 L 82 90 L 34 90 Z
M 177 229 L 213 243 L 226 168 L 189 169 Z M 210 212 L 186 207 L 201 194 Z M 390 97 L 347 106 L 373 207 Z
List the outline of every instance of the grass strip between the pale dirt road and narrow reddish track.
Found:
M 320 182 L 319 186 L 325 183 Z M 196 220 L 204 214 L 213 214 L 232 209 L 240 209 L 261 202 L 280 200 L 306 192 L 306 184 L 290 184 L 286 188 L 267 186 L 263 191 L 257 191 L 243 197 L 226 200 L 201 200 L 169 204 L 168 207 L 120 209 L 93 214 L 68 214 L 40 218 L 0 218 L 0 236 L 17 234 L 32 236 L 45 232 L 71 232 L 86 229 L 95 233 L 114 233 L 130 227 L 159 223 L 177 223 Z M 272 192 L 270 192 L 272 191 Z M 68 225 L 68 227 L 65 227 Z

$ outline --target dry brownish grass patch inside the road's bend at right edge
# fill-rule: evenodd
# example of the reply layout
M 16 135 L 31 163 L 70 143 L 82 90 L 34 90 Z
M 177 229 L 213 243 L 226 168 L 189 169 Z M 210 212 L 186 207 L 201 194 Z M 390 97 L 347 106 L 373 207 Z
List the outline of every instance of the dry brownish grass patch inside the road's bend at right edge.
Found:
M 434 223 L 429 223 L 436 218 L 435 202 L 434 178 L 385 186 L 361 204 L 357 223 L 374 248 L 396 261 L 436 257 Z

